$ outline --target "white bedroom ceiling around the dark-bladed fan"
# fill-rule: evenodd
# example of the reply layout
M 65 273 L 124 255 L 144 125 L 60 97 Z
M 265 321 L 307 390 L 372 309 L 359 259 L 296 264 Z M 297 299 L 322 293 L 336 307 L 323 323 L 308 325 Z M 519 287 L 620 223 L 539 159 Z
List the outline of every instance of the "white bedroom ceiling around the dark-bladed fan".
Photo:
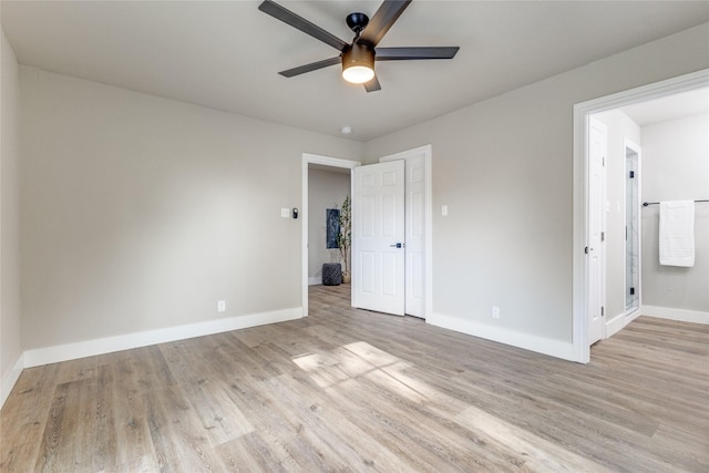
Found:
M 258 10 L 258 1 L 7 1 L 21 64 L 247 116 L 369 141 L 709 21 L 707 1 L 414 0 L 381 47 L 459 45 L 451 61 L 377 64 L 366 93 L 331 66 L 278 71 L 335 49 Z M 346 41 L 345 18 L 380 1 L 281 4 Z

